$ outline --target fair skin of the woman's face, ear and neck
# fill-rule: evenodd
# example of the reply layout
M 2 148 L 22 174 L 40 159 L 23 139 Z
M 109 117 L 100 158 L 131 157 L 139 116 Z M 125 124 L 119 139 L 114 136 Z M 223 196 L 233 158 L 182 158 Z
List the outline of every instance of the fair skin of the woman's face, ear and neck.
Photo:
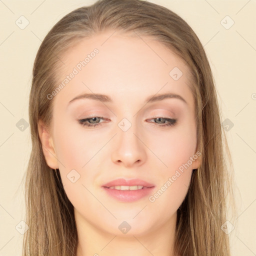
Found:
M 43 153 L 48 166 L 59 168 L 74 206 L 77 256 L 174 255 L 176 210 L 199 158 L 154 202 L 148 196 L 120 202 L 101 185 L 120 177 L 141 178 L 155 185 L 153 194 L 196 153 L 195 105 L 188 87 L 191 76 L 182 59 L 156 40 L 140 36 L 142 40 L 135 33 L 112 33 L 104 31 L 83 39 L 61 57 L 65 66 L 59 72 L 60 82 L 86 54 L 99 50 L 51 99 L 50 127 L 38 122 Z M 175 66 L 183 73 L 178 80 L 169 75 Z M 107 94 L 113 102 L 86 98 L 68 104 L 85 92 Z M 144 104 L 149 95 L 166 92 L 179 94 L 187 103 L 165 98 Z M 77 119 L 93 113 L 107 120 L 99 119 L 98 127 L 78 123 Z M 155 115 L 177 122 L 162 127 L 164 121 L 157 122 Z M 127 131 L 118 126 L 124 117 L 131 123 Z M 80 174 L 74 183 L 66 177 L 72 169 Z M 118 229 L 124 220 L 131 226 L 126 234 Z

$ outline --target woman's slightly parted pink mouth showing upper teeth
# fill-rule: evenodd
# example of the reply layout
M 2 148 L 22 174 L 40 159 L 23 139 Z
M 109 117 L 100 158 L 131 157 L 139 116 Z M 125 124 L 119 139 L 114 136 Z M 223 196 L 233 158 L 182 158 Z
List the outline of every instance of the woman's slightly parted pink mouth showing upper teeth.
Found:
M 102 188 L 110 197 L 122 202 L 137 201 L 150 194 L 154 187 L 154 184 L 150 184 L 145 180 L 126 180 L 123 178 L 115 179 L 102 185 Z

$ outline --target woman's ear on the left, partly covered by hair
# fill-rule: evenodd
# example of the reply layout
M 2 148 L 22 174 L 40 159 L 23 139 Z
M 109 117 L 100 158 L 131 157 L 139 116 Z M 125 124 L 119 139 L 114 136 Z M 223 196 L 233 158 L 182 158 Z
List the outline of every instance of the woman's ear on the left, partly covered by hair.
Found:
M 40 119 L 37 123 L 38 125 L 38 133 L 40 137 L 40 141 L 42 144 L 42 151 L 45 157 L 47 165 L 52 168 L 58 168 L 58 161 L 55 154 L 55 149 L 53 145 L 52 136 L 48 130 L 48 128 L 44 125 L 42 120 Z

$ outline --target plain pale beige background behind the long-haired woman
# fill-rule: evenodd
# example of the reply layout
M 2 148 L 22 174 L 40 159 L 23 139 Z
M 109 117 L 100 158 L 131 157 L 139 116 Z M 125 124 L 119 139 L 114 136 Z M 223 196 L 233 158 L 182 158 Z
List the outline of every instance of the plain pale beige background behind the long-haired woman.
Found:
M 232 255 L 256 255 L 256 2 L 255 0 L 151 0 L 179 14 L 193 28 L 210 61 L 222 121 L 231 149 L 238 205 L 237 224 L 229 234 Z M 0 0 L 0 256 L 21 255 L 24 220 L 22 177 L 31 150 L 28 96 L 32 64 L 41 40 L 63 15 L 93 0 Z M 29 24 L 20 29 L 23 15 Z M 232 22 L 224 18 L 228 15 Z M 223 19 L 224 18 L 224 19 Z M 223 19 L 222 23 L 221 20 Z M 24 23 L 23 23 L 24 24 Z M 204 255 L 202 255 L 204 256 Z

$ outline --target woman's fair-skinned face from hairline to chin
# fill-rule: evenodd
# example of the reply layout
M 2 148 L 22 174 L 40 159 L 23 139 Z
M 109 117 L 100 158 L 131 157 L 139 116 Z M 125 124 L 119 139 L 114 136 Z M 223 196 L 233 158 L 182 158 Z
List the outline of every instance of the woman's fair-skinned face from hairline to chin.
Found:
M 60 59 L 45 158 L 59 168 L 77 224 L 135 235 L 174 223 L 198 167 L 187 66 L 149 37 L 113 31 Z M 120 178 L 127 183 L 109 183 Z

